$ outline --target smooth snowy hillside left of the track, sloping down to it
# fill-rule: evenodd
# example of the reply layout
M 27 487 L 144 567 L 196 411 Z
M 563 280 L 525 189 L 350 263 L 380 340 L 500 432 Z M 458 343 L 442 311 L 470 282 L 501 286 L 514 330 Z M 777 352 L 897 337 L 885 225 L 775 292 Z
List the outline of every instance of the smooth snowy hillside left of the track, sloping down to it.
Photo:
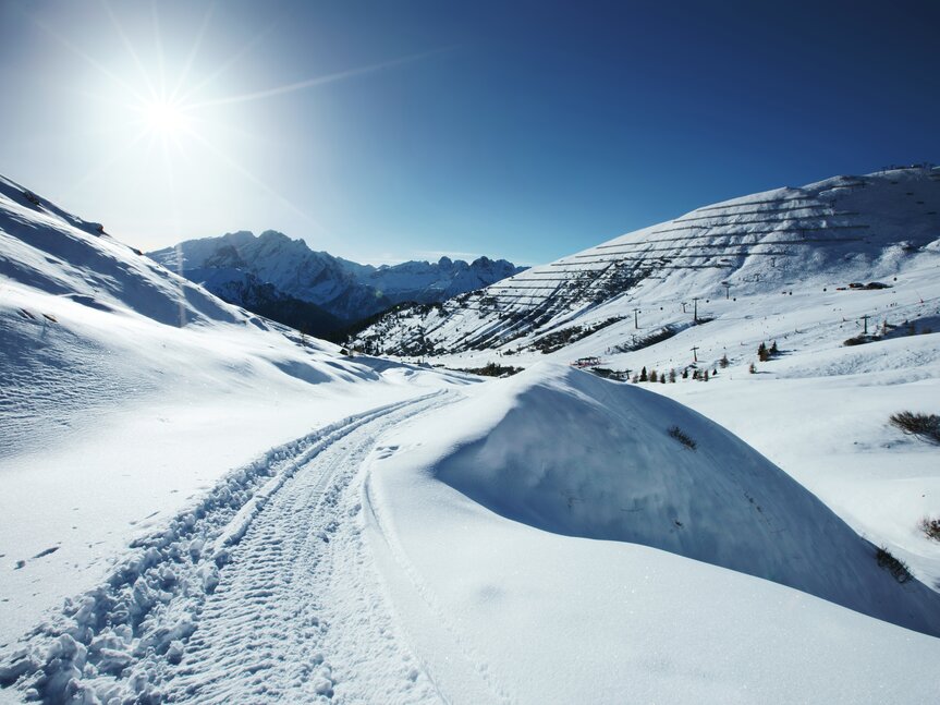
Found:
M 227 472 L 427 385 L 440 376 L 302 340 L 0 179 L 0 645 Z

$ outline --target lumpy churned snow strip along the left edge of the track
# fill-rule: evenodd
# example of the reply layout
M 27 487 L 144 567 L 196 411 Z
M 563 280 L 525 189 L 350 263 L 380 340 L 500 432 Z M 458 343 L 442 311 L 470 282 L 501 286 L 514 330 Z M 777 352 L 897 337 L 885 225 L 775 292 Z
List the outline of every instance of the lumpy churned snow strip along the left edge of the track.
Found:
M 160 701 L 166 670 L 182 659 L 202 603 L 271 496 L 357 428 L 422 409 L 440 394 L 350 416 L 232 471 L 166 530 L 135 542 L 135 551 L 102 585 L 66 600 L 61 615 L 36 627 L 24 646 L 2 659 L 0 685 L 15 682 L 42 702 Z M 328 479 L 325 474 L 320 486 Z

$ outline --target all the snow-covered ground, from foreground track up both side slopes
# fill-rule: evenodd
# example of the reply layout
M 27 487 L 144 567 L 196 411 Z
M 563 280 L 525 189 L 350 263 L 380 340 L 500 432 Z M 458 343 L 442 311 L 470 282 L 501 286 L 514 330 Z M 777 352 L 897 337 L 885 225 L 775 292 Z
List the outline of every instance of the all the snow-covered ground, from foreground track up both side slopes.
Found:
M 774 195 L 884 227 L 857 256 L 744 256 L 728 299 L 676 269 L 431 361 L 527 367 L 484 384 L 303 340 L 0 181 L 0 698 L 940 701 L 940 451 L 888 424 L 940 412 L 940 233 L 891 217 L 938 184 L 892 173 Z M 843 345 L 866 314 L 896 327 Z

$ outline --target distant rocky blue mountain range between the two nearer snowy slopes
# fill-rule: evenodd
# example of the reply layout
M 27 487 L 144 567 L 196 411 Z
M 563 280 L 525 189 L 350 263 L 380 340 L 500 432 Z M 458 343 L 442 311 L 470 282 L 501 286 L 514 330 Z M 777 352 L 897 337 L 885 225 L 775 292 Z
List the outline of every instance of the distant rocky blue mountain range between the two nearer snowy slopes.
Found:
M 281 323 L 325 335 L 402 302 L 434 303 L 488 287 L 524 267 L 479 257 L 467 264 L 361 265 L 310 250 L 273 230 L 187 240 L 147 253 L 164 267 L 228 301 Z

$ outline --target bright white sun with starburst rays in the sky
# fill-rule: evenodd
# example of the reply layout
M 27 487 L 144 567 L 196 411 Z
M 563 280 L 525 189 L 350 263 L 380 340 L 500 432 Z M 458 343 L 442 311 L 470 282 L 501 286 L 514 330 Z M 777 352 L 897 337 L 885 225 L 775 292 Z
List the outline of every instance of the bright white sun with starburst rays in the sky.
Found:
M 124 15 L 118 11 L 123 8 L 112 7 L 107 0 L 100 7 L 112 38 L 105 44 L 86 46 L 72 34 L 30 16 L 47 36 L 78 60 L 78 65 L 90 70 L 69 88 L 93 107 L 94 114 L 87 119 L 94 125 L 96 141 L 94 158 L 73 180 L 73 187 L 87 187 L 99 180 L 103 183 L 121 172 L 141 187 L 155 190 L 155 195 L 160 194 L 157 197 L 172 202 L 164 204 L 164 212 L 178 214 L 187 210 L 178 199 L 199 199 L 204 195 L 200 190 L 213 189 L 212 182 L 227 172 L 255 193 L 266 194 L 302 216 L 318 235 L 327 234 L 327 229 L 306 208 L 266 181 L 265 165 L 257 161 L 264 154 L 258 151 L 258 144 L 277 144 L 277 131 L 272 132 L 271 125 L 265 125 L 267 130 L 259 127 L 259 112 L 242 105 L 279 100 L 286 94 L 392 70 L 448 50 L 392 57 L 300 81 L 258 86 L 258 74 L 243 69 L 256 61 L 259 47 L 278 24 L 276 19 L 260 23 L 242 41 L 220 52 L 223 13 L 217 11 L 216 4 L 194 17 L 182 36 L 181 25 L 174 25 L 172 33 L 164 32 L 164 25 L 170 24 L 161 21 L 162 9 L 157 3 L 138 15 Z M 188 38 L 185 33 L 190 33 Z M 170 227 L 179 230 L 179 221 L 173 220 Z M 168 238 L 179 234 L 166 233 Z

